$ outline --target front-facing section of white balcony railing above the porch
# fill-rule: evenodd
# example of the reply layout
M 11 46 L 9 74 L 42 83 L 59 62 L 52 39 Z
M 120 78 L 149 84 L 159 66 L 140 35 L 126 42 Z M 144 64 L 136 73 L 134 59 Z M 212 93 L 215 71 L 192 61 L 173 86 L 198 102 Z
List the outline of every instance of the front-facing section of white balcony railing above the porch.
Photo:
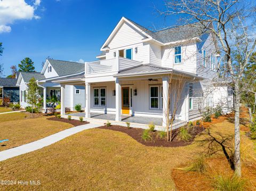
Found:
M 116 59 L 99 60 L 85 63 L 86 73 L 116 71 Z

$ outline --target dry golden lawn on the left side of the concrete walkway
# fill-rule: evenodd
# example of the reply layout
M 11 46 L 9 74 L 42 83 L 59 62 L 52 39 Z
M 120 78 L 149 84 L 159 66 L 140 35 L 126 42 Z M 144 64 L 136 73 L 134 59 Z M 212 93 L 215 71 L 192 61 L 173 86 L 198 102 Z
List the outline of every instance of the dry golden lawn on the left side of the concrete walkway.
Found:
M 47 117 L 25 118 L 26 113 L 2 115 L 0 115 L 0 140 L 9 139 L 9 141 L 0 144 L 0 151 L 27 144 L 73 127 L 68 123 L 49 121 L 46 119 Z

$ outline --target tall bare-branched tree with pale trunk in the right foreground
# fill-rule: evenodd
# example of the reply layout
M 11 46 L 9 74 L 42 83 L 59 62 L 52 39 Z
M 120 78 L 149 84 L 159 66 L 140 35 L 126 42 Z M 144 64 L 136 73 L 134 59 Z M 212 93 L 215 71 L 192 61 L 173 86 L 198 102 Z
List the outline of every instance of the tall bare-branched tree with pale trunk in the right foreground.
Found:
M 165 16 L 180 15 L 180 23 L 201 23 L 205 32 L 217 37 L 223 77 L 230 76 L 234 84 L 235 143 L 234 163 L 237 176 L 241 176 L 239 107 L 243 87 L 242 78 L 256 46 L 254 29 L 256 8 L 249 1 L 239 0 L 166 0 Z M 213 26 L 213 27 L 212 27 Z M 235 60 L 235 54 L 241 59 Z

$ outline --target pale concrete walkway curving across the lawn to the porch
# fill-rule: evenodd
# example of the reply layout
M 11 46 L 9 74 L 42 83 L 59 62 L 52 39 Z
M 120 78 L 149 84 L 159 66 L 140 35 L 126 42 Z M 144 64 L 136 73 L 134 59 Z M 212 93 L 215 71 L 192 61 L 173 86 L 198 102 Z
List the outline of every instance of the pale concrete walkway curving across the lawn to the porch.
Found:
M 35 142 L 31 142 L 25 145 L 21 145 L 18 147 L 10 148 L 9 150 L 5 150 L 0 152 L 0 161 L 4 161 L 6 159 L 10 159 L 14 156 L 19 156 L 21 154 L 29 153 L 32 151 L 36 151 L 40 148 L 43 148 L 45 146 L 51 145 L 53 143 L 58 142 L 59 140 L 66 138 L 70 135 L 74 135 L 77 132 L 81 132 L 85 129 L 92 129 L 99 127 L 99 124 L 83 124 L 82 126 L 77 126 L 73 128 L 69 128 L 60 132 L 57 132 L 56 134 L 50 135 L 48 137 L 36 140 Z

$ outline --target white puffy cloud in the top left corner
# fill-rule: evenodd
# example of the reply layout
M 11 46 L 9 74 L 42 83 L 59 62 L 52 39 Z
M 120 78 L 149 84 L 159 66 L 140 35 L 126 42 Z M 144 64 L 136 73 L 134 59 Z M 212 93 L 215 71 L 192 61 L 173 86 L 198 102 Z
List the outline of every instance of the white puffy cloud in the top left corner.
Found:
M 41 0 L 35 0 L 33 5 L 27 4 L 25 0 L 0 0 L 0 33 L 10 32 L 9 24 L 15 20 L 39 19 L 35 10 L 40 3 Z

